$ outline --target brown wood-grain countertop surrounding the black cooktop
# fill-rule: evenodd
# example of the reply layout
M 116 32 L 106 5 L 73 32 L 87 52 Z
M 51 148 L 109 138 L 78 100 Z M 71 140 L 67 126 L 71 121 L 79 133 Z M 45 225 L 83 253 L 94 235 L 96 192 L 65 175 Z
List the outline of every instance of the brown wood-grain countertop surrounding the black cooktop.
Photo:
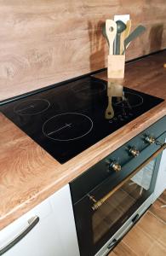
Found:
M 128 63 L 123 84 L 166 99 L 164 62 L 166 50 Z M 0 113 L 0 230 L 165 114 L 163 102 L 60 165 Z

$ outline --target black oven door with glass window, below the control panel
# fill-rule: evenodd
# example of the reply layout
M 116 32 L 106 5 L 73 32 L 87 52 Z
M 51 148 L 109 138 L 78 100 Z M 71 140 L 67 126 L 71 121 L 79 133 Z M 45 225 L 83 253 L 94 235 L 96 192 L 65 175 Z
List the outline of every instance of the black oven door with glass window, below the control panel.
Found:
M 135 176 L 116 190 L 112 189 L 111 195 L 103 195 L 103 190 L 108 191 L 109 183 L 100 184 L 74 205 L 81 256 L 94 256 L 152 194 L 156 162 L 157 158 L 154 158 Z

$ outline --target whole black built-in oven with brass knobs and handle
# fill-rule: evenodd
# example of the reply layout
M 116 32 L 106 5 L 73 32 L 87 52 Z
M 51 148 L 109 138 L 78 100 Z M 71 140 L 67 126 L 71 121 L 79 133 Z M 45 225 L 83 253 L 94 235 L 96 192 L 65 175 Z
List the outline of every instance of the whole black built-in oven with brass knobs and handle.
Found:
M 81 256 L 106 255 L 152 204 L 166 117 L 70 183 Z

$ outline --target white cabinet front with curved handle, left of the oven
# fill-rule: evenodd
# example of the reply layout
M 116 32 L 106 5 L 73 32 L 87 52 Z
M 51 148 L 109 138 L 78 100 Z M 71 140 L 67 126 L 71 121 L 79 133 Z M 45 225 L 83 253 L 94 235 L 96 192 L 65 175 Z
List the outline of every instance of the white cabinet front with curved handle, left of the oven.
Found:
M 79 255 L 68 185 L 4 228 L 0 232 L 0 247 L 14 240 L 28 225 L 30 227 L 28 220 L 36 221 L 36 224 L 26 236 L 3 253 L 4 256 Z

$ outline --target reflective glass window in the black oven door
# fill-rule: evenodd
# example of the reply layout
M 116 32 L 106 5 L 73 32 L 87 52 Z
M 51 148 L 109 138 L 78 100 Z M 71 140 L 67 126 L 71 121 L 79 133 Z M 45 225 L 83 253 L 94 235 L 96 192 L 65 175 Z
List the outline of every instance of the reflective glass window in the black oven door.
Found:
M 152 160 L 94 210 L 92 215 L 94 244 L 100 242 L 108 232 L 113 235 L 114 231 L 120 228 L 151 194 L 155 162 L 156 160 Z

